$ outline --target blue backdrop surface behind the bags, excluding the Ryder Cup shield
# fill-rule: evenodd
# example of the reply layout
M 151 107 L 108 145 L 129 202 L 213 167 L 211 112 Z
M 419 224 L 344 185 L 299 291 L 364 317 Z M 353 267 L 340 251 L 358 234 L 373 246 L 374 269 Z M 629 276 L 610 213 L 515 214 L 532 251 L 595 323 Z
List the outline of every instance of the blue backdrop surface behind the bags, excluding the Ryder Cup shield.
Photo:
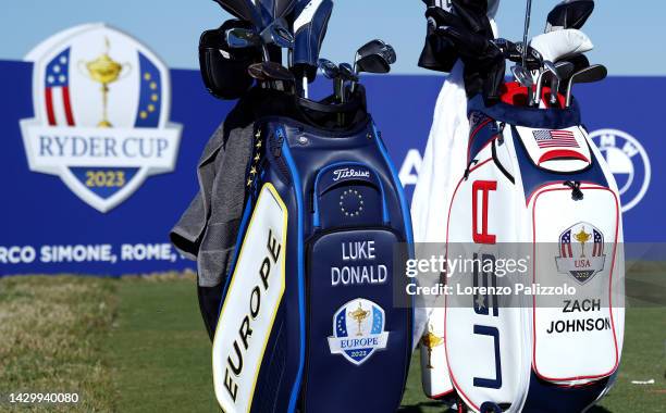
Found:
M 34 116 L 33 64 L 0 61 L 0 76 L 4 80 L 0 93 L 0 275 L 118 275 L 194 267 L 190 261 L 170 249 L 168 233 L 197 190 L 196 165 L 208 137 L 234 102 L 215 100 L 208 95 L 198 72 L 172 70 L 170 118 L 183 125 L 175 170 L 150 176 L 128 199 L 101 213 L 72 193 L 59 177 L 28 170 L 18 121 Z M 410 167 L 403 163 L 410 149 L 422 154 L 443 77 L 369 76 L 363 83 L 369 107 L 396 166 L 416 174 L 416 165 Z M 323 88 L 330 85 L 319 83 L 314 92 L 322 93 Z M 612 77 L 601 84 L 577 88 L 583 121 L 590 132 L 609 128 L 629 134 L 651 160 L 649 189 L 640 202 L 625 213 L 627 241 L 666 239 L 666 220 L 661 215 L 662 188 L 666 185 L 666 149 L 664 133 L 658 127 L 661 116 L 665 115 L 664 92 L 666 78 Z M 632 182 L 622 196 L 622 202 L 627 203 L 637 197 L 646 171 L 633 146 L 622 145 L 626 140 L 616 140 L 619 150 L 625 149 L 633 155 L 627 159 L 634 168 L 634 173 L 628 175 Z M 627 183 L 628 176 L 618 174 L 620 185 Z M 406 189 L 411 196 L 412 186 Z M 44 253 L 51 246 L 76 245 L 104 245 L 112 258 L 88 255 L 83 262 L 76 262 L 66 256 L 53 260 L 52 255 Z M 123 246 L 134 251 L 133 256 L 123 256 Z M 145 256 L 144 249 L 148 246 L 159 249 L 159 253 Z M 30 249 L 35 251 L 34 256 Z

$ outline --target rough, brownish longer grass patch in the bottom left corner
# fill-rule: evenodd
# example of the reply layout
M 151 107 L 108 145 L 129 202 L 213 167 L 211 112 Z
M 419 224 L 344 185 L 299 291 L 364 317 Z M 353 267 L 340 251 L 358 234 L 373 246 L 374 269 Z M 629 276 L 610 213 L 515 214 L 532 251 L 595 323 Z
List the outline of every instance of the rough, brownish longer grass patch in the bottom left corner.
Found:
M 66 276 L 0 280 L 2 402 L 10 392 L 78 392 L 81 411 L 113 410 L 120 395 L 104 341 L 114 322 L 116 287 L 103 279 Z

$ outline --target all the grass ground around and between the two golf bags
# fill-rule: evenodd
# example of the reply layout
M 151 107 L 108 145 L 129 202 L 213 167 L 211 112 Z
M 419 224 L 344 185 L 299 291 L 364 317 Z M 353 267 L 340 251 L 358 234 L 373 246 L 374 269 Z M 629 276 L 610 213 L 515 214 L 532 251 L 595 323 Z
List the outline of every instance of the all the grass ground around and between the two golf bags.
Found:
M 594 411 L 666 412 L 665 346 L 666 309 L 629 309 L 617 385 Z M 419 368 L 415 355 L 403 411 L 444 412 L 423 397 Z M 193 277 L 0 279 L 0 411 L 22 390 L 79 393 L 33 411 L 219 411 Z

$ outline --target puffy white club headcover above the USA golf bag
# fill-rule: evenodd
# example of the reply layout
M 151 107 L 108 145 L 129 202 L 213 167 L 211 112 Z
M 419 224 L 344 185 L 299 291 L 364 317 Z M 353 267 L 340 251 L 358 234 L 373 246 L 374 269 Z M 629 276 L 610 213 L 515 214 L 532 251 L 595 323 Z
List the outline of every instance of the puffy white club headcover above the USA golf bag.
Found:
M 579 29 L 566 28 L 564 30 L 548 32 L 532 38 L 530 46 L 536 49 L 543 60 L 557 62 L 594 49 L 592 40 Z

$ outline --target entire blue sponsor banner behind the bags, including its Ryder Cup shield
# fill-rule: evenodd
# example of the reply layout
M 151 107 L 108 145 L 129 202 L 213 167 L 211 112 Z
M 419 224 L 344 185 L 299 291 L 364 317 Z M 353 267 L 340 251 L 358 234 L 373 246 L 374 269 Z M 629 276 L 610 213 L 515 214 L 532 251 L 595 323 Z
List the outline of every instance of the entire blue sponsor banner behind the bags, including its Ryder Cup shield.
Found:
M 198 189 L 199 155 L 233 101 L 211 97 L 198 71 L 168 70 L 148 46 L 103 24 L 54 34 L 25 62 L 0 61 L 0 75 L 11 79 L 0 93 L 0 275 L 194 267 L 168 233 Z M 443 80 L 363 77 L 408 197 Z M 319 79 L 312 93 L 330 88 Z M 655 122 L 659 93 L 644 90 L 666 90 L 666 77 L 610 77 L 577 85 L 575 95 L 617 178 L 625 239 L 656 242 L 666 239 L 666 133 Z

